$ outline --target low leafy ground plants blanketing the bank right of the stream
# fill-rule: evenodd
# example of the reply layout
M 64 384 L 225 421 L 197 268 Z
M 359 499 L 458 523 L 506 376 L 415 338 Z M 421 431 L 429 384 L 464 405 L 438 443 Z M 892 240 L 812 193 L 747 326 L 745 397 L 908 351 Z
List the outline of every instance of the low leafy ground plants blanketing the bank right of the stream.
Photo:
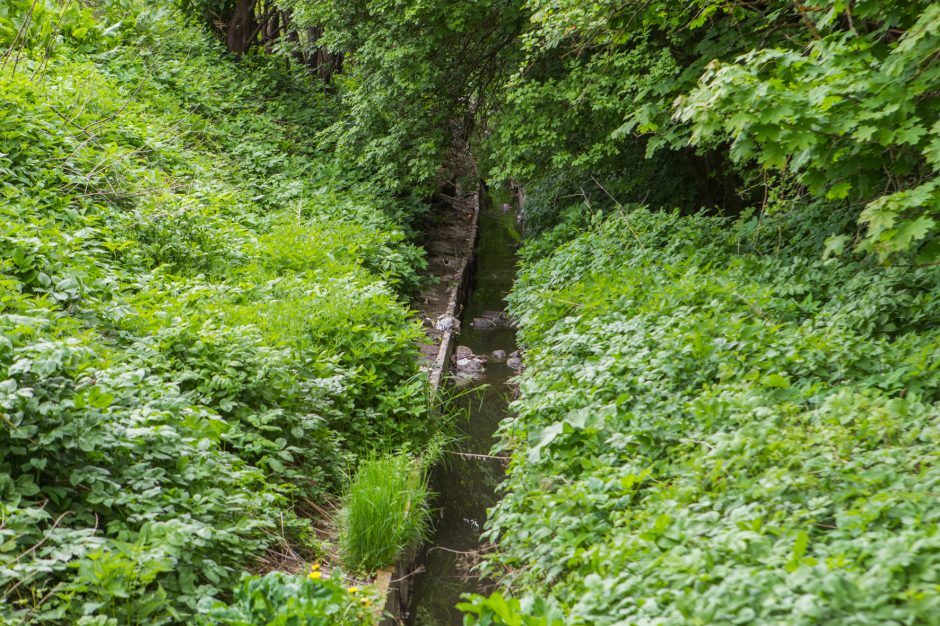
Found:
M 936 623 L 940 270 L 826 260 L 827 215 L 526 246 L 491 573 L 566 624 Z

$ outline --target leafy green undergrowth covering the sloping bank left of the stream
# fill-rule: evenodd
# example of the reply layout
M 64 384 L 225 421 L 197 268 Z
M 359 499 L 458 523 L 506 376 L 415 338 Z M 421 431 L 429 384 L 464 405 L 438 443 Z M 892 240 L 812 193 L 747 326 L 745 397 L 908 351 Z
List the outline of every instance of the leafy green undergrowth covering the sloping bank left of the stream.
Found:
M 433 430 L 419 203 L 169 3 L 6 2 L 0 44 L 0 623 L 192 623 Z

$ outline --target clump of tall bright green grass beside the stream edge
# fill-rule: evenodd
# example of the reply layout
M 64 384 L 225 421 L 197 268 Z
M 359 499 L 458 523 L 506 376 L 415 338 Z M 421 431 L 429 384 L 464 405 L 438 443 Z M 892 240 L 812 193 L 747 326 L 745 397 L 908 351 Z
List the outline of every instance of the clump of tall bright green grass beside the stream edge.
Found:
M 340 550 L 350 568 L 389 565 L 427 539 L 428 463 L 407 453 L 372 453 L 350 481 L 340 512 Z

